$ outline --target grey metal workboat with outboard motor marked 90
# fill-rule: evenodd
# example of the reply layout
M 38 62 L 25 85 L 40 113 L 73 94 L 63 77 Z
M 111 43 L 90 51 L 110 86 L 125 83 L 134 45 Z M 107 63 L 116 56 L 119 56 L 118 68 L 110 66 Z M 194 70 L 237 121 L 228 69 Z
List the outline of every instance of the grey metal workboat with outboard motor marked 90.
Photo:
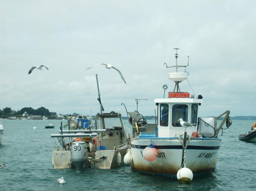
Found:
M 97 74 L 96 79 L 98 86 Z M 60 143 L 52 151 L 54 169 L 111 169 L 122 162 L 129 148 L 130 134 L 125 132 L 127 127 L 123 125 L 119 111 L 103 113 L 99 87 L 97 99 L 100 103 L 100 113 L 95 117 L 81 115 L 77 121 L 69 119 L 63 127 L 61 122 L 60 134 L 51 135 Z M 112 124 L 110 121 L 113 121 L 113 118 L 119 119 L 120 122 Z

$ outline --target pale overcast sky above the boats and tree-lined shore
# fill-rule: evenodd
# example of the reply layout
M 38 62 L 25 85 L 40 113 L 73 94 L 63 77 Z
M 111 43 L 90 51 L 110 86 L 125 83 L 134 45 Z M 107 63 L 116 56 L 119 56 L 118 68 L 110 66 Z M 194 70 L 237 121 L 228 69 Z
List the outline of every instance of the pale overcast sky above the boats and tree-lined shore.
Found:
M 164 50 L 161 31 L 163 28 Z M 256 115 L 256 1 L 0 0 L 0 108 L 155 115 L 168 73 L 189 57 L 199 116 Z M 165 52 L 165 56 L 164 56 Z M 98 63 L 117 67 L 106 69 Z M 48 67 L 40 71 L 32 66 Z M 184 69 L 180 69 L 183 72 Z M 193 94 L 187 81 L 181 91 Z M 167 93 L 166 93 L 167 94 Z

